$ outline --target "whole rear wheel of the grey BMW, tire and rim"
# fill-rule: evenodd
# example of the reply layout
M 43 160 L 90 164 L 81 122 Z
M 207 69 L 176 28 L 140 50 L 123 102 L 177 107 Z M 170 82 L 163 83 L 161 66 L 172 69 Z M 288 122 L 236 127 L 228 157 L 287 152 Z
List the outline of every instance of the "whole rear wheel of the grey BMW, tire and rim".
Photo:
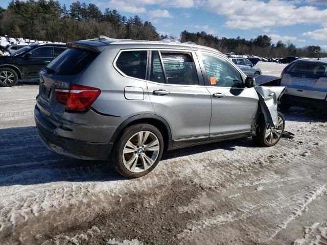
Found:
M 137 124 L 123 130 L 112 149 L 110 160 L 121 175 L 138 178 L 156 167 L 162 152 L 164 139 L 160 131 L 149 124 Z

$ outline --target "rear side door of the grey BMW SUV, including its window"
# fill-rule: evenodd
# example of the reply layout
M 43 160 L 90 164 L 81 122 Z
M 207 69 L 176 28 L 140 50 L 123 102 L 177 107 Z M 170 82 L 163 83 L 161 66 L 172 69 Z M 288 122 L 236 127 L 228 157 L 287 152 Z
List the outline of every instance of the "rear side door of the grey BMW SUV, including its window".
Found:
M 173 144 L 206 140 L 211 99 L 195 53 L 153 50 L 148 70 L 150 100 L 155 113 L 170 124 Z

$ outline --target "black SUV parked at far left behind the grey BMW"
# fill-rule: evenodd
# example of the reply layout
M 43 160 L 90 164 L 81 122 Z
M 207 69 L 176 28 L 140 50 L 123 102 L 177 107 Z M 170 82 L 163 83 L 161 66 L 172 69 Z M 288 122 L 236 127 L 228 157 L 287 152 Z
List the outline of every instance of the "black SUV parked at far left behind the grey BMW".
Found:
M 65 44 L 34 44 L 11 56 L 0 56 L 0 86 L 12 87 L 18 79 L 39 78 L 38 71 L 65 50 Z

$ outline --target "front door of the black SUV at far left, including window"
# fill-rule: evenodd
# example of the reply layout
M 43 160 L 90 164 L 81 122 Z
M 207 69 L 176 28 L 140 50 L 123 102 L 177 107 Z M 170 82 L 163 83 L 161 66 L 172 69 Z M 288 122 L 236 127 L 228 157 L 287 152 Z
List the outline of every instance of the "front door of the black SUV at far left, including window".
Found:
M 24 78 L 38 78 L 39 70 L 53 60 L 53 47 L 37 47 L 22 57 Z

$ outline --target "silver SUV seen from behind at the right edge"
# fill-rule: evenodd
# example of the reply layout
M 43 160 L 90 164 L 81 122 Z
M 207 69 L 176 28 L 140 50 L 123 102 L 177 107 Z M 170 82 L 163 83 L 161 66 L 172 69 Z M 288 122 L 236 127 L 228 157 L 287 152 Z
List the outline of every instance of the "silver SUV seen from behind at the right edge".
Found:
M 327 109 L 327 63 L 318 60 L 297 60 L 286 66 L 281 85 L 287 87 L 279 108 L 291 106 Z

